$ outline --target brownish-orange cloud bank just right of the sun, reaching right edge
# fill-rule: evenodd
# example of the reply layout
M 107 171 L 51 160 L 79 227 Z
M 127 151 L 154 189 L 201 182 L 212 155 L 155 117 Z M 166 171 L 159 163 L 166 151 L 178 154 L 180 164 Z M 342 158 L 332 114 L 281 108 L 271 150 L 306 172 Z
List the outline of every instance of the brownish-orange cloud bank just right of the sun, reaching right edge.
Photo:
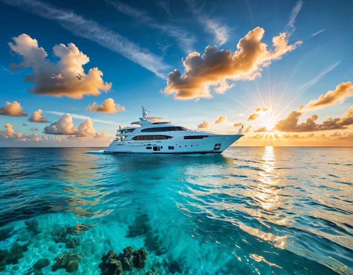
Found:
M 304 112 L 302 109 L 291 111 L 286 118 L 279 120 L 274 129 L 282 132 L 312 132 L 323 130 L 347 129 L 353 124 L 353 106 L 340 118 L 328 117 L 322 123 L 316 123 L 319 118 L 314 114 L 306 119 L 305 122 L 298 123 L 300 116 Z

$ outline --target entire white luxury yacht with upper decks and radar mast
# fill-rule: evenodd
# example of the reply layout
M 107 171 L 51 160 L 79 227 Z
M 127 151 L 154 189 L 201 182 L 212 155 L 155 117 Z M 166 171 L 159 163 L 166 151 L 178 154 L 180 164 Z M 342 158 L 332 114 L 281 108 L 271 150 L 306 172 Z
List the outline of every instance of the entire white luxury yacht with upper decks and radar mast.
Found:
M 222 153 L 240 139 L 236 134 L 217 134 L 209 131 L 189 130 L 160 117 L 151 117 L 151 111 L 142 106 L 142 117 L 132 127 L 117 130 L 116 138 L 105 153 L 150 154 L 204 154 Z M 135 126 L 136 125 L 136 126 Z

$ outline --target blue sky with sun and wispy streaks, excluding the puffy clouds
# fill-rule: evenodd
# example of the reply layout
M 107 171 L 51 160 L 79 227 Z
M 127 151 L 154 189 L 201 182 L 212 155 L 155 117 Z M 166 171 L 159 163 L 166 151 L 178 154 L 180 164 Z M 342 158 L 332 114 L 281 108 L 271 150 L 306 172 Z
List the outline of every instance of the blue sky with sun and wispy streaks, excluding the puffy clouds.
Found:
M 339 83 L 352 81 L 352 8 L 351 1 L 0 1 L 0 105 L 17 101 L 29 116 L 42 109 L 50 122 L 61 117 L 52 112 L 70 113 L 76 126 L 84 119 L 73 114 L 88 116 L 96 132 L 109 135 L 115 133 L 117 125 L 134 121 L 141 105 L 155 116 L 170 116 L 174 123 L 189 128 L 203 121 L 212 124 L 221 115 L 227 116 L 229 123 L 261 126 L 261 120 L 247 122 L 259 106 L 273 110 L 267 114 L 271 119 L 283 119 Z M 189 53 L 203 54 L 209 45 L 235 52 L 239 40 L 256 27 L 264 29 L 261 42 L 269 48 L 272 38 L 283 32 L 289 44 L 303 43 L 281 59 L 271 60 L 262 68 L 261 76 L 228 81 L 234 87 L 224 94 L 211 93 L 211 98 L 197 100 L 175 99 L 173 94 L 163 92 L 168 73 L 174 69 L 183 72 L 181 59 Z M 29 93 L 33 83 L 23 78 L 32 69 L 9 69 L 11 63 L 22 62 L 22 56 L 10 51 L 8 45 L 12 37 L 21 34 L 36 39 L 54 63 L 59 58 L 53 55 L 53 46 L 73 43 L 89 57 L 83 65 L 85 73 L 97 67 L 103 72 L 103 80 L 112 83 L 111 89 L 82 99 Z M 107 98 L 113 98 L 126 111 L 85 110 L 94 101 L 100 105 Z M 352 103 L 352 97 L 347 96 L 343 103 L 307 111 L 305 117 L 315 113 L 317 122 L 341 117 Z M 11 123 L 15 132 L 42 135 L 49 125 L 27 119 L 0 116 L 0 129 Z M 229 123 L 210 125 L 209 129 L 232 128 Z M 38 131 L 29 130 L 32 127 Z

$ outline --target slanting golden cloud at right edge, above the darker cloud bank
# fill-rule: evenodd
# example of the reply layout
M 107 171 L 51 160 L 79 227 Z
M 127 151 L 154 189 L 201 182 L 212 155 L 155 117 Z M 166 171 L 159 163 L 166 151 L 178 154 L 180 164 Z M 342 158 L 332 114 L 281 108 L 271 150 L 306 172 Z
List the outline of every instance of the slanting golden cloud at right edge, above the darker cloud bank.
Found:
M 337 85 L 335 90 L 329 90 L 327 93 L 319 96 L 318 99 L 311 100 L 305 105 L 306 109 L 321 108 L 335 104 L 337 101 L 343 102 L 345 98 L 353 94 L 351 82 L 342 82 Z

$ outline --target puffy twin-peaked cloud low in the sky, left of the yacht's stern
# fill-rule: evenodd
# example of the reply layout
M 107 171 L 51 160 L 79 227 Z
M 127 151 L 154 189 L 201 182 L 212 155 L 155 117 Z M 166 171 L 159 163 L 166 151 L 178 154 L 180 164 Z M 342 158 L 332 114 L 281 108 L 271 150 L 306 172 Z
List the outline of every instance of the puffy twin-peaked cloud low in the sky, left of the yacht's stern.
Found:
M 50 135 L 74 135 L 77 137 L 93 135 L 95 129 L 90 118 L 81 122 L 76 128 L 72 122 L 72 117 L 65 113 L 57 122 L 50 123 L 50 125 L 44 127 L 43 133 Z

